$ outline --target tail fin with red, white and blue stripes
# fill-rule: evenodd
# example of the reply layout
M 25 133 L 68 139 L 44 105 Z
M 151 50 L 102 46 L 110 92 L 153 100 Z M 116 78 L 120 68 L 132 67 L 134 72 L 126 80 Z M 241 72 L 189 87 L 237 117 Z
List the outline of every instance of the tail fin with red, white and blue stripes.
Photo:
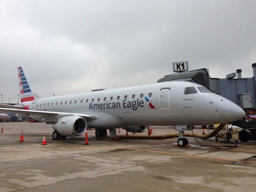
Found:
M 18 67 L 18 76 L 20 84 L 20 100 L 21 102 L 35 100 L 34 94 L 30 89 L 29 82 L 27 81 L 22 67 Z

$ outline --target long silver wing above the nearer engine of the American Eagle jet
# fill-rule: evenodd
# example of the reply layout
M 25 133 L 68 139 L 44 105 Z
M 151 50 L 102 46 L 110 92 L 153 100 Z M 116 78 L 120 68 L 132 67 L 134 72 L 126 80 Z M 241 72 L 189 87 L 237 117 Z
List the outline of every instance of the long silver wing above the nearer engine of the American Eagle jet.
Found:
M 35 111 L 35 110 L 10 109 L 10 108 L 0 108 L 0 111 L 9 112 L 9 113 L 27 114 L 27 115 L 41 115 L 46 117 L 52 117 L 55 115 L 77 115 L 80 117 L 88 118 L 90 120 L 99 118 L 97 115 L 92 115 L 92 114 L 65 113 L 65 112 L 54 112 L 54 111 Z

